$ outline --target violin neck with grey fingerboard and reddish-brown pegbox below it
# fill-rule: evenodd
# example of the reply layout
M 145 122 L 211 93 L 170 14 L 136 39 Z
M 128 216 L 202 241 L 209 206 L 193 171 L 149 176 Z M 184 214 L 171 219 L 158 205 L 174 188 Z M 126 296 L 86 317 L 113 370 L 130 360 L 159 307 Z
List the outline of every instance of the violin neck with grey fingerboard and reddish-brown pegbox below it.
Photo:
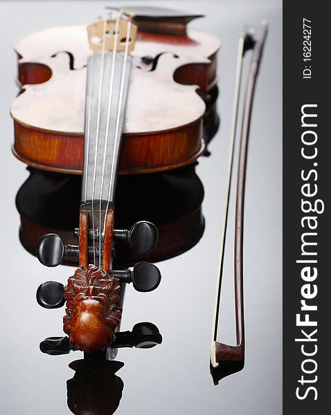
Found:
M 105 52 L 92 55 L 87 64 L 80 264 L 107 271 L 131 65 L 129 55 Z

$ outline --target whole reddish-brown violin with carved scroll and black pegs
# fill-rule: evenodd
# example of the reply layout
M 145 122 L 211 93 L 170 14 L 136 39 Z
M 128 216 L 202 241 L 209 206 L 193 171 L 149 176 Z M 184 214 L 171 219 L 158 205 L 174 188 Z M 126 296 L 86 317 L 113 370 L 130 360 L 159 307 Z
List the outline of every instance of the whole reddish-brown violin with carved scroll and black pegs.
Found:
M 89 354 L 115 340 L 122 313 L 120 284 L 148 292 L 161 281 L 159 269 L 145 261 L 133 270 L 113 269 L 116 239 L 143 254 L 154 250 L 159 238 L 147 221 L 130 230 L 114 229 L 118 172 L 173 169 L 193 163 L 204 151 L 202 96 L 206 99 L 213 84 L 206 82 L 213 72 L 208 56 L 215 55 L 219 41 L 181 34 L 169 52 L 169 42 L 162 42 L 169 35 L 160 36 L 139 36 L 134 14 L 118 12 L 87 31 L 82 26 L 47 29 L 17 46 L 19 79 L 35 83 L 25 85 L 12 104 L 14 154 L 31 167 L 82 171 L 78 246 L 66 245 L 57 234 L 37 243 L 42 264 L 57 266 L 66 255 L 78 257 L 78 269 L 65 287 L 55 282 L 39 286 L 37 301 L 46 308 L 66 302 L 64 332 L 73 349 Z M 199 86 L 179 84 L 174 75 L 180 79 L 185 71 L 194 72 L 195 64 L 204 72 L 200 95 Z

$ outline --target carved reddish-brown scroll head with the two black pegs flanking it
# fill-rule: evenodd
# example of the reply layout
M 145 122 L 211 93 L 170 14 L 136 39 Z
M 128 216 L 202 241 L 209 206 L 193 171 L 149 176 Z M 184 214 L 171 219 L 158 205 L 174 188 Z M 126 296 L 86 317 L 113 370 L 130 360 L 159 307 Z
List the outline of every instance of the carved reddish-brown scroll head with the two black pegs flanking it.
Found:
M 147 262 L 139 262 L 133 270 L 109 273 L 93 265 L 80 267 L 65 287 L 58 282 L 39 286 L 37 302 L 44 308 L 59 308 L 66 302 L 64 332 L 71 347 L 94 353 L 115 340 L 114 330 L 122 314 L 117 305 L 120 282 L 132 282 L 136 291 L 149 292 L 159 286 L 161 273 Z

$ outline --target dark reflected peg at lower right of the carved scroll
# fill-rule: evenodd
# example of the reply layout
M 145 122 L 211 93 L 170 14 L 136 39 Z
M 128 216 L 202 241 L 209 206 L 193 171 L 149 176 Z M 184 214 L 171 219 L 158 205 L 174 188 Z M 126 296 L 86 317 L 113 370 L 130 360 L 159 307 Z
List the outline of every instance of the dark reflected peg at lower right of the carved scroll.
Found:
M 111 347 L 136 347 L 150 349 L 162 343 L 162 336 L 155 324 L 143 322 L 134 324 L 132 331 L 119 331 Z

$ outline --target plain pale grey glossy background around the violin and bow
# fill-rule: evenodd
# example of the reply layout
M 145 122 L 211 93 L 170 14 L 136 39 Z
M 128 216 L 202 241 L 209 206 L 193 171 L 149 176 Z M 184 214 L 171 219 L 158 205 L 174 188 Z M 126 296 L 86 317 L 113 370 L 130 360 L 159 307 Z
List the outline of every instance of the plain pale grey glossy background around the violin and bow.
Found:
M 45 268 L 21 247 L 15 194 L 28 176 L 10 153 L 13 141 L 10 102 L 17 94 L 16 56 L 12 46 L 27 33 L 47 26 L 93 21 L 105 4 L 117 1 L 0 2 L 1 145 L 1 414 L 67 414 L 68 363 L 80 358 L 44 356 L 39 341 L 62 335 L 63 310 L 46 311 L 35 302 L 37 286 L 46 280 L 66 282 L 66 266 Z M 125 1 L 125 4 L 132 2 Z M 151 350 L 125 349 L 118 360 L 124 383 L 116 414 L 274 415 L 281 413 L 281 98 L 282 8 L 280 1 L 135 1 L 206 14 L 191 26 L 220 36 L 219 109 L 222 125 L 212 156 L 199 161 L 197 174 L 205 189 L 206 230 L 184 255 L 159 264 L 163 281 L 154 293 L 125 293 L 122 329 L 139 321 L 154 322 L 163 344 Z M 123 3 L 122 3 L 123 4 Z M 247 331 L 243 371 L 213 386 L 209 344 L 217 277 L 227 149 L 231 131 L 238 34 L 245 24 L 267 19 L 270 33 L 262 62 L 251 125 L 244 233 L 244 295 Z M 232 200 L 232 206 L 233 206 Z M 222 286 L 219 339 L 234 342 L 233 248 L 229 245 Z M 46 409 L 48 408 L 48 410 Z

